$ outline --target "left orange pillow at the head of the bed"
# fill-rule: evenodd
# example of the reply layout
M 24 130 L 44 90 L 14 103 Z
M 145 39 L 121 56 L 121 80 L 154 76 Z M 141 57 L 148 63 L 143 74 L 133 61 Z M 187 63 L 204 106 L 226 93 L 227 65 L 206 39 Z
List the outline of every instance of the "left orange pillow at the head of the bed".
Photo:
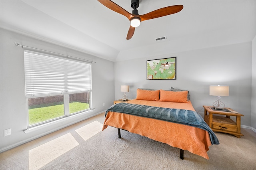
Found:
M 160 90 L 142 90 L 137 89 L 137 100 L 151 100 L 158 101 L 159 100 Z

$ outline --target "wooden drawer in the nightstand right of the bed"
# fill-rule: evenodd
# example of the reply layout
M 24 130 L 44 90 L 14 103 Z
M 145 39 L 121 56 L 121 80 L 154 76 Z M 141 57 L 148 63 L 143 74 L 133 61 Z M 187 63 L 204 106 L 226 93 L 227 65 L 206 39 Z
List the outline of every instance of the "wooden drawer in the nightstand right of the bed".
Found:
M 237 132 L 238 130 L 236 123 L 232 119 L 220 116 L 213 116 L 212 128 L 230 132 Z

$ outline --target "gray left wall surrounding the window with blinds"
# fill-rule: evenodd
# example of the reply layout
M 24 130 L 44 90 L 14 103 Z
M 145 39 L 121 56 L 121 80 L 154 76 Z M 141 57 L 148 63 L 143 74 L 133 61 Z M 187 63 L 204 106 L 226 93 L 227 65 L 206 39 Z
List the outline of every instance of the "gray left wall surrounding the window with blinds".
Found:
M 1 86 L 0 86 L 0 148 L 1 152 L 48 134 L 59 128 L 72 125 L 105 111 L 114 100 L 114 62 L 94 57 L 73 49 L 62 47 L 35 38 L 1 29 Z M 14 43 L 64 53 L 96 61 L 92 63 L 92 107 L 93 112 L 69 117 L 44 128 L 24 133 L 27 128 L 24 48 Z M 31 50 L 31 49 L 30 49 Z M 105 106 L 103 106 L 105 103 Z M 11 135 L 4 136 L 4 129 L 11 128 Z

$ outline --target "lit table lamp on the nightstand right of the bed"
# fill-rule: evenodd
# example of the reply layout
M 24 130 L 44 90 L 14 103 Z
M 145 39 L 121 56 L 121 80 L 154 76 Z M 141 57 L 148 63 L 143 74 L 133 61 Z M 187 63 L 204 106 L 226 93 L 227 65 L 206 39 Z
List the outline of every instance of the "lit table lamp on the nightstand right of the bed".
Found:
M 225 104 L 220 101 L 220 96 L 229 96 L 228 85 L 210 85 L 210 95 L 217 96 L 217 101 L 212 103 L 215 110 L 224 110 Z

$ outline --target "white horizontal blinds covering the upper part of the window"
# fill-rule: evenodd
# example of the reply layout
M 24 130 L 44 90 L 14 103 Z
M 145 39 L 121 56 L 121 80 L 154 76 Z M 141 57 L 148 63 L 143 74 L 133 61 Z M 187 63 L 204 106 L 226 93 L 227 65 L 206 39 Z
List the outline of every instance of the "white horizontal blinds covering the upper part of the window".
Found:
M 24 51 L 26 97 L 91 91 L 91 64 Z

